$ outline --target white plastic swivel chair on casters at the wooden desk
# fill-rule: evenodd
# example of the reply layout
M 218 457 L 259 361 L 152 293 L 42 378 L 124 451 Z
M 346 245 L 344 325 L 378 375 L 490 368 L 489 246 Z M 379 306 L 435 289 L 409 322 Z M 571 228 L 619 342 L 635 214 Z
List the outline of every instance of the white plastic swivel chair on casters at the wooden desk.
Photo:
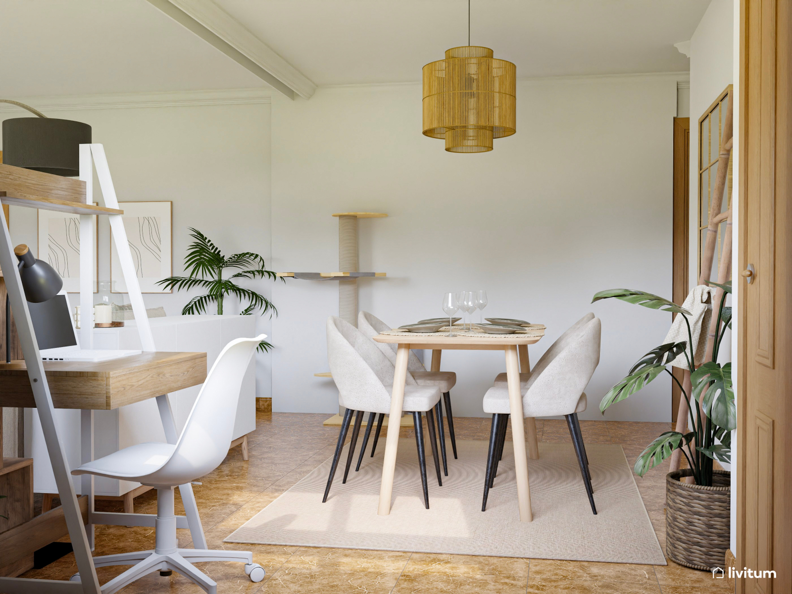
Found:
M 184 485 L 215 470 L 228 454 L 237 414 L 242 377 L 265 334 L 230 341 L 211 366 L 204 386 L 176 444 L 137 444 L 116 451 L 72 470 L 71 474 L 96 474 L 150 485 L 157 489 L 156 544 L 154 550 L 93 558 L 97 567 L 133 565 L 102 586 L 102 594 L 112 594 L 154 571 L 177 571 L 209 594 L 217 584 L 192 565 L 193 562 L 238 561 L 252 581 L 264 579 L 253 554 L 239 550 L 180 549 L 176 538 L 177 518 L 173 511 L 173 487 Z M 79 573 L 71 577 L 79 581 Z

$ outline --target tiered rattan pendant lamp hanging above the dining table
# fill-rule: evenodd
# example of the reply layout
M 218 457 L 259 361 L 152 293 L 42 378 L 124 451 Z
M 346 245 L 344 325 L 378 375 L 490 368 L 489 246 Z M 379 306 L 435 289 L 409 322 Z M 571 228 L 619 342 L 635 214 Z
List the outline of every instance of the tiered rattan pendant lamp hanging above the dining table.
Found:
M 515 133 L 516 66 L 470 45 L 470 0 L 467 45 L 428 63 L 423 78 L 423 133 L 445 139 L 448 152 L 484 153 L 493 150 L 493 139 Z

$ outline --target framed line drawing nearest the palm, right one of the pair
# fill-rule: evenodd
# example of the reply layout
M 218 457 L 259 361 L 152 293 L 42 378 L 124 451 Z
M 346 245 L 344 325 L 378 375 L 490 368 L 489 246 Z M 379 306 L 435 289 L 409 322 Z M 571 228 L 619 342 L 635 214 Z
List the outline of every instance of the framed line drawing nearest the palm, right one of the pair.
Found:
M 173 235 L 173 202 L 120 202 L 124 211 L 132 261 L 135 263 L 140 291 L 172 293 L 157 284 L 173 275 L 171 244 Z M 112 292 L 126 293 L 127 284 L 121 272 L 115 242 L 110 241 L 110 280 Z

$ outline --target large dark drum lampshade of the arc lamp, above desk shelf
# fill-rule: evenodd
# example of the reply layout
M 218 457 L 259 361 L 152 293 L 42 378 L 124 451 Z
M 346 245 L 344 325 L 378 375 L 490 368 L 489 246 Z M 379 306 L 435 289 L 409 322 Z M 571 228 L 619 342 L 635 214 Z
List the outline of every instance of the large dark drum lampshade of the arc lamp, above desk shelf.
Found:
M 2 123 L 2 162 L 68 177 L 80 174 L 80 145 L 91 127 L 73 120 L 17 117 Z

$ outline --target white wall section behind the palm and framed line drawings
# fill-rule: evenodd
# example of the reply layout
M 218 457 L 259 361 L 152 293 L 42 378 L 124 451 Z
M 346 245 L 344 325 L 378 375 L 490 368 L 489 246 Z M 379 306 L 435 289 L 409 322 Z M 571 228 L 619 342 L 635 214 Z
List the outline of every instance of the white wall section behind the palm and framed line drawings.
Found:
M 89 101 L 101 103 L 100 99 Z M 134 102 L 135 97 L 131 97 L 129 103 Z M 105 145 L 121 202 L 173 200 L 174 274 L 184 272 L 188 227 L 207 234 L 223 253 L 256 252 L 269 264 L 268 102 L 62 109 L 47 110 L 47 115 L 92 126 L 93 142 Z M 24 116 L 22 110 L 0 113 L 0 119 Z M 96 182 L 94 192 L 95 200 L 99 200 L 101 191 Z M 14 242 L 36 246 L 36 211 L 12 207 L 11 234 Z M 109 280 L 109 238 L 109 225 L 101 219 L 100 280 Z M 249 281 L 246 286 L 269 296 L 272 281 Z M 178 315 L 188 299 L 199 294 L 144 294 L 143 299 L 147 307 L 162 306 L 167 314 Z M 227 301 L 233 303 L 234 299 Z M 225 313 L 238 312 L 232 303 L 227 303 Z M 270 333 L 268 318 L 259 319 L 258 331 Z M 257 395 L 268 397 L 270 356 L 260 354 L 257 363 Z

